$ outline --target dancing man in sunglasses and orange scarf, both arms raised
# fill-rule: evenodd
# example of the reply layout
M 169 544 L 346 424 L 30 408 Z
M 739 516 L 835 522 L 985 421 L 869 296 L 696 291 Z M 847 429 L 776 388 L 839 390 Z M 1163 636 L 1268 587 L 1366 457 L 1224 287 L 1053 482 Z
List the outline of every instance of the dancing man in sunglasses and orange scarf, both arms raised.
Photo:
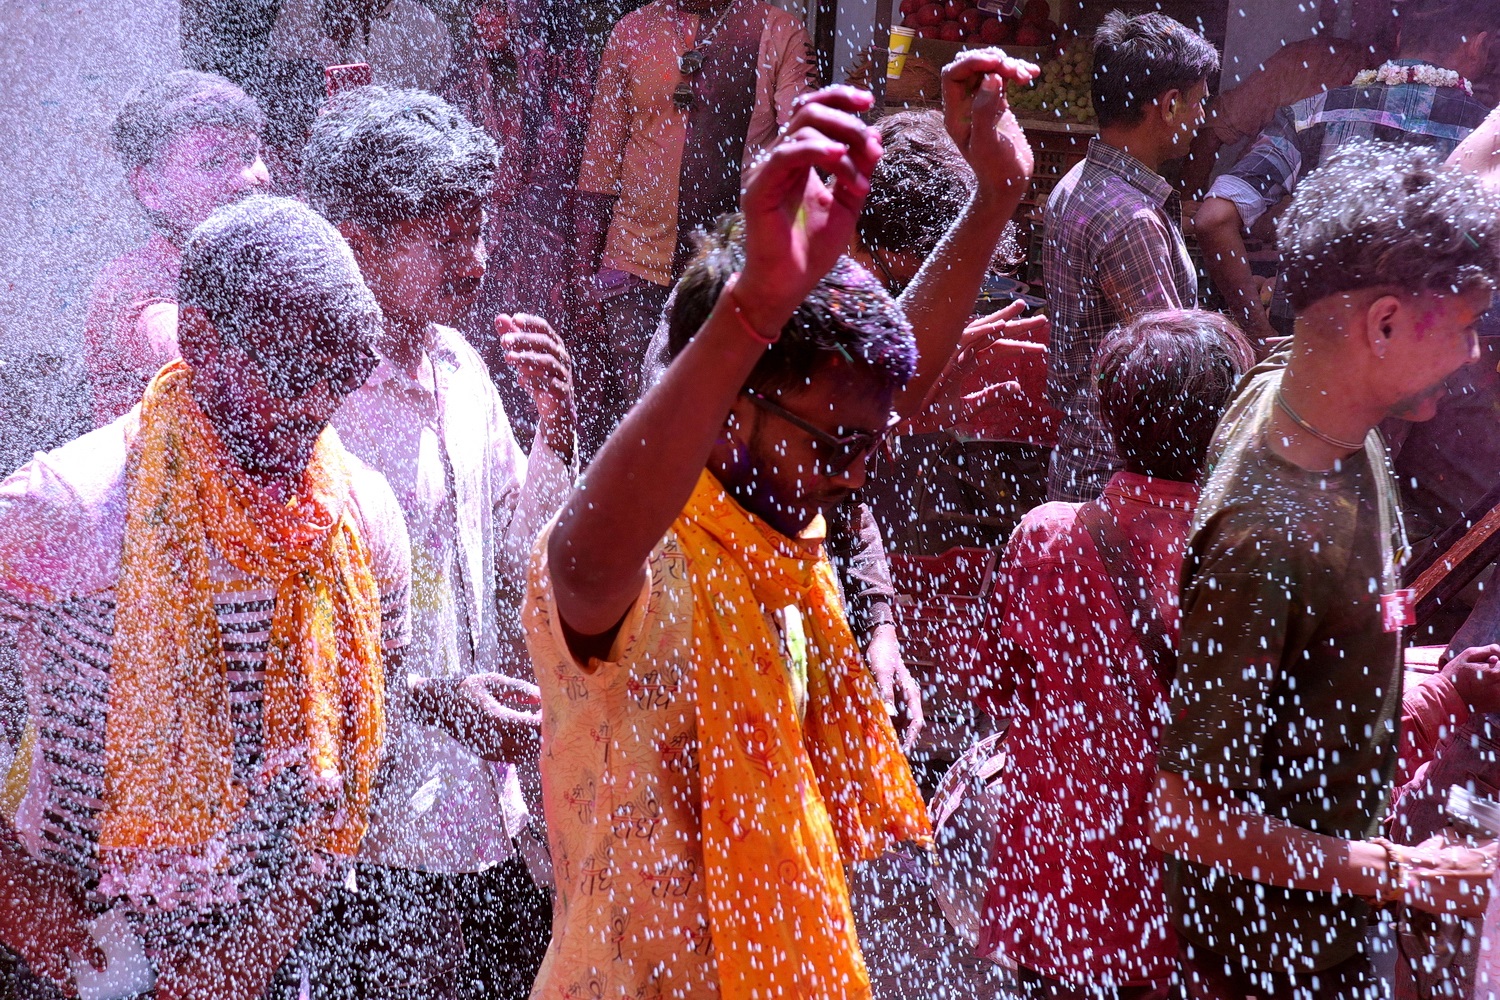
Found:
M 1008 178 L 986 226 L 1030 172 L 1002 87 L 1032 72 L 992 52 L 950 75 Z M 843 865 L 928 826 L 820 513 L 864 481 L 892 405 L 924 397 L 975 289 L 914 342 L 840 258 L 880 154 L 868 106 L 848 88 L 800 105 L 746 187 L 742 238 L 682 280 L 676 360 L 538 541 L 525 619 L 558 901 L 534 997 L 870 996 Z

